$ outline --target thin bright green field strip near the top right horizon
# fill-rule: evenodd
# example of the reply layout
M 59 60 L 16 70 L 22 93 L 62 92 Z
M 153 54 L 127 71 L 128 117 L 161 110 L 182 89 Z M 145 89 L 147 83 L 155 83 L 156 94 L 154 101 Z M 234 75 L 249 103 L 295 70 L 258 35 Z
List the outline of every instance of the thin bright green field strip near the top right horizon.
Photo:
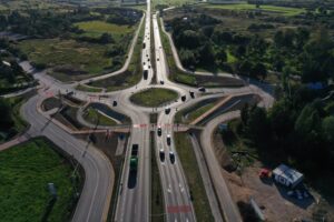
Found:
M 296 16 L 302 12 L 305 12 L 305 9 L 301 8 L 291 8 L 291 7 L 276 7 L 276 6 L 265 6 L 262 4 L 259 8 L 256 8 L 256 4 L 249 3 L 233 3 L 233 4 L 208 4 L 206 8 L 215 9 L 229 9 L 229 10 L 263 10 L 272 13 L 282 13 L 284 16 Z

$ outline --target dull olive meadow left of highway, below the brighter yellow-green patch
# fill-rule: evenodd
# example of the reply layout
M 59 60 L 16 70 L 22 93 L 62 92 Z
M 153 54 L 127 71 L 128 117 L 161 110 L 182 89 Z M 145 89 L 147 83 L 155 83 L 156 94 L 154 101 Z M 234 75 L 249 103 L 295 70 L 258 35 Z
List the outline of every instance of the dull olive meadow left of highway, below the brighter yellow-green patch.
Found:
M 106 46 L 61 39 L 32 39 L 19 43 L 36 64 L 58 67 L 51 74 L 60 80 L 79 80 L 108 69 L 111 60 L 105 56 Z

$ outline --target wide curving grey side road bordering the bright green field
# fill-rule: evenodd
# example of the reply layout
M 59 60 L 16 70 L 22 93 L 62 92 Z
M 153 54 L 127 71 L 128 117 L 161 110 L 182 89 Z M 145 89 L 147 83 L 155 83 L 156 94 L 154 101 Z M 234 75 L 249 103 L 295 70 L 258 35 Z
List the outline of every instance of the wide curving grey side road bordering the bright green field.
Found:
M 72 221 L 106 221 L 112 193 L 115 173 L 107 157 L 85 141 L 75 139 L 37 111 L 43 100 L 35 95 L 21 109 L 31 124 L 29 137 L 45 135 L 72 155 L 85 170 L 85 184 Z

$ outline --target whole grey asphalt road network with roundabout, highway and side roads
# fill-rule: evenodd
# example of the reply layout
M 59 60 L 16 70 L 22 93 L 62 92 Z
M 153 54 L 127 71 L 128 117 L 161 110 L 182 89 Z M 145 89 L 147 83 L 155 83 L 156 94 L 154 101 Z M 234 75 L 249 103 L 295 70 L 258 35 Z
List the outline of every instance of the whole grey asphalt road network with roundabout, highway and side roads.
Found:
M 132 125 L 130 130 L 130 139 L 128 141 L 128 148 L 125 154 L 122 174 L 120 178 L 120 189 L 117 199 L 117 206 L 115 212 L 115 221 L 150 221 L 150 142 L 149 142 L 149 113 L 158 113 L 157 125 L 163 129 L 161 137 L 155 134 L 155 153 L 153 153 L 158 161 L 158 169 L 160 172 L 163 193 L 165 199 L 165 210 L 167 221 L 196 221 L 196 214 L 190 201 L 189 188 L 185 179 L 185 172 L 181 168 L 181 162 L 177 157 L 174 144 L 174 117 L 177 110 L 184 109 L 186 107 L 193 105 L 200 100 L 223 97 L 225 94 L 238 94 L 244 92 L 257 93 L 263 99 L 263 105 L 269 107 L 274 99 L 272 97 L 271 89 L 267 85 L 259 84 L 257 82 L 249 82 L 250 84 L 243 88 L 215 88 L 207 89 L 206 94 L 199 92 L 197 89 L 177 84 L 169 81 L 168 79 L 168 67 L 165 51 L 161 46 L 161 39 L 159 33 L 158 18 L 157 14 L 153 14 L 150 11 L 150 0 L 147 0 L 147 11 L 145 17 L 140 21 L 140 26 L 134 37 L 128 58 L 125 65 L 112 73 L 108 73 L 100 77 L 90 78 L 75 83 L 62 83 L 55 80 L 52 77 L 48 75 L 45 71 L 33 72 L 29 62 L 23 62 L 21 65 L 28 72 L 31 72 L 35 79 L 39 80 L 41 84 L 40 94 L 36 95 L 28 101 L 22 108 L 22 115 L 31 123 L 30 130 L 27 135 L 37 137 L 46 135 L 51 141 L 53 141 L 58 147 L 63 149 L 69 154 L 72 154 L 80 164 L 84 167 L 86 172 L 86 182 L 79 199 L 79 203 L 73 215 L 73 221 L 106 221 L 106 216 L 109 209 L 112 183 L 114 183 L 114 170 L 109 160 L 97 149 L 88 145 L 81 140 L 77 140 L 71 134 L 63 131 L 61 128 L 57 127 L 55 123 L 45 118 L 41 113 L 37 111 L 37 108 L 46 97 L 53 97 L 58 93 L 67 93 L 69 91 L 73 92 L 73 97 L 84 101 L 100 102 L 109 107 L 112 107 L 112 101 L 118 101 L 118 105 L 115 109 L 130 117 Z M 153 30 L 151 30 L 153 24 Z M 88 83 L 91 81 L 101 80 L 115 74 L 124 72 L 129 64 L 130 58 L 135 44 L 137 43 L 138 33 L 140 27 L 145 26 L 145 36 L 141 50 L 141 64 L 143 69 L 148 69 L 147 78 L 141 78 L 141 80 L 134 87 L 125 90 L 114 91 L 108 93 L 94 93 L 84 92 L 75 90 L 73 88 L 79 83 Z M 165 31 L 165 30 L 163 30 Z M 151 56 L 151 36 L 154 36 L 154 48 L 155 57 Z M 170 37 L 169 37 L 170 38 Z M 173 41 L 171 41 L 173 46 Z M 173 46 L 174 57 L 176 59 L 179 69 L 185 70 L 177 57 L 175 47 Z M 151 60 L 154 59 L 154 61 Z M 154 71 L 151 69 L 151 63 L 155 62 L 156 68 L 156 79 L 158 84 L 151 84 L 151 79 L 154 78 Z M 188 72 L 188 71 L 187 71 Z M 191 72 L 193 73 L 193 72 Z M 197 73 L 207 74 L 207 73 Z M 232 77 L 230 74 L 226 74 Z M 139 92 L 141 90 L 159 87 L 175 90 L 179 97 L 186 95 L 186 101 L 181 101 L 179 98 L 168 104 L 161 105 L 159 108 L 144 108 L 132 104 L 129 101 L 131 94 Z M 189 91 L 195 92 L 195 99 L 190 99 Z M 101 97 L 102 95 L 102 97 Z M 165 113 L 165 109 L 170 108 L 170 113 Z M 226 117 L 226 115 L 222 115 Z M 229 115 L 228 115 L 229 117 Z M 217 119 L 214 119 L 218 121 Z M 220 120 L 220 119 L 219 119 Z M 210 122 L 210 124 L 216 124 L 216 122 Z M 209 145 L 208 141 L 210 133 L 213 131 L 213 125 L 207 125 L 206 130 L 202 135 L 203 145 Z M 155 129 L 156 130 L 156 129 Z M 167 144 L 167 134 L 170 135 L 170 144 Z M 134 175 L 129 171 L 129 159 L 132 144 L 139 145 L 139 163 L 138 171 Z M 88 145 L 88 147 L 87 147 Z M 218 202 L 223 208 L 224 216 L 228 221 L 239 221 L 239 213 L 233 203 L 228 189 L 224 182 L 224 178 L 219 171 L 219 165 L 216 165 L 216 160 L 213 153 L 209 152 L 208 147 L 203 147 L 205 152 L 204 157 L 208 164 L 208 171 L 214 178 L 213 185 L 218 193 Z M 159 157 L 159 151 L 164 150 L 165 160 L 161 161 Z M 196 150 L 196 148 L 195 148 Z M 175 162 L 170 161 L 169 153 L 175 153 Z M 198 164 L 203 164 L 199 162 Z M 200 165 L 202 168 L 203 165 Z M 205 171 L 205 169 L 204 169 Z M 207 170 L 206 170 L 207 171 Z M 205 178 L 205 176 L 204 176 Z M 207 175 L 206 175 L 207 178 Z M 206 180 L 206 179 L 204 179 Z M 210 184 L 205 185 L 206 193 L 210 198 L 213 195 L 213 188 Z M 217 191 L 218 190 L 218 191 Z M 218 204 L 210 200 L 212 212 L 214 216 L 222 219 Z

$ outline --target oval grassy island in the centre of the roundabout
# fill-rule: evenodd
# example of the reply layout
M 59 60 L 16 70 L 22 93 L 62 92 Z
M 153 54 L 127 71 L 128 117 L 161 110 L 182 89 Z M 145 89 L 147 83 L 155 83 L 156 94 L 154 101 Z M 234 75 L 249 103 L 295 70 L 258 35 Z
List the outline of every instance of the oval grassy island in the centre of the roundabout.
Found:
M 130 97 L 130 101 L 143 107 L 159 107 L 178 98 L 174 90 L 150 88 Z

